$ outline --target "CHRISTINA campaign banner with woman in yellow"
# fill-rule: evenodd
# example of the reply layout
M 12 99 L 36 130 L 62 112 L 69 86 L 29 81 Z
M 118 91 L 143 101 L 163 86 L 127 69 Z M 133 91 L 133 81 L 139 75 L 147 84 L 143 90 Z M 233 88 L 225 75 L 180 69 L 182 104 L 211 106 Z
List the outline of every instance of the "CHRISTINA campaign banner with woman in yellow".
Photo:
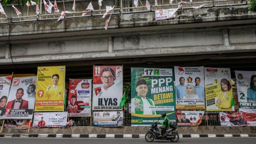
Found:
M 207 111 L 234 111 L 229 68 L 204 68 Z

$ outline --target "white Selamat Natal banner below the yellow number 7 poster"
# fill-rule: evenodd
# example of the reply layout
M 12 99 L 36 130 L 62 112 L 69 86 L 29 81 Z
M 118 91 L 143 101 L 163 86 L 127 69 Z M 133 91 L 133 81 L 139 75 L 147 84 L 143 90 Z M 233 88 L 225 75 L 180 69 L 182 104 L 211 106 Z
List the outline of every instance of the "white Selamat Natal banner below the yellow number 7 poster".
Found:
M 68 112 L 35 112 L 33 128 L 64 128 Z

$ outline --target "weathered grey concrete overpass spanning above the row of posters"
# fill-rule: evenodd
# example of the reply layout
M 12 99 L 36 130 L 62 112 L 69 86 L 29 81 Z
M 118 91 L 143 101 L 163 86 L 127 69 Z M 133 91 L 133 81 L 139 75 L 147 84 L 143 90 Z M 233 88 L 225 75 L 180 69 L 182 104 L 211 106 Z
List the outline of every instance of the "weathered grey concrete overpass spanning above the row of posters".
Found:
M 178 10 L 176 18 L 157 22 L 154 12 L 114 14 L 108 30 L 105 20 L 95 15 L 0 24 L 1 73 L 66 65 L 67 78 L 91 78 L 93 65 L 124 64 L 129 82 L 130 67 L 139 66 L 256 70 L 256 14 L 247 5 Z

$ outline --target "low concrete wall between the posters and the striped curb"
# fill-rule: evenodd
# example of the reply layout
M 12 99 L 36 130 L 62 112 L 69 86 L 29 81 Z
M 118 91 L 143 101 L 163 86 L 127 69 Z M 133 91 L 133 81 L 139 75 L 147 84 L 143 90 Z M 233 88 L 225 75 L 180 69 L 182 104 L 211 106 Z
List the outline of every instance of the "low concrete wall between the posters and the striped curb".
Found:
M 149 126 L 120 128 L 72 126 L 69 128 L 32 128 L 30 134 L 146 134 Z M 4 128 L 3 133 L 27 133 L 28 130 Z M 221 126 L 194 126 L 178 127 L 180 134 L 255 134 L 256 127 L 221 127 Z

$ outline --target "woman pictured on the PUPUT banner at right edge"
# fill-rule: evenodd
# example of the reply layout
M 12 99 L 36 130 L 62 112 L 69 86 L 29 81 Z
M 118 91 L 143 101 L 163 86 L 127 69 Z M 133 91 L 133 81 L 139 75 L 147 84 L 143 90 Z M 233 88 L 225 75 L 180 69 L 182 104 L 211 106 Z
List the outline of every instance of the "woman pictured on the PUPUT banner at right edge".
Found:
M 256 102 L 256 75 L 251 76 L 250 88 L 247 89 L 247 102 Z

